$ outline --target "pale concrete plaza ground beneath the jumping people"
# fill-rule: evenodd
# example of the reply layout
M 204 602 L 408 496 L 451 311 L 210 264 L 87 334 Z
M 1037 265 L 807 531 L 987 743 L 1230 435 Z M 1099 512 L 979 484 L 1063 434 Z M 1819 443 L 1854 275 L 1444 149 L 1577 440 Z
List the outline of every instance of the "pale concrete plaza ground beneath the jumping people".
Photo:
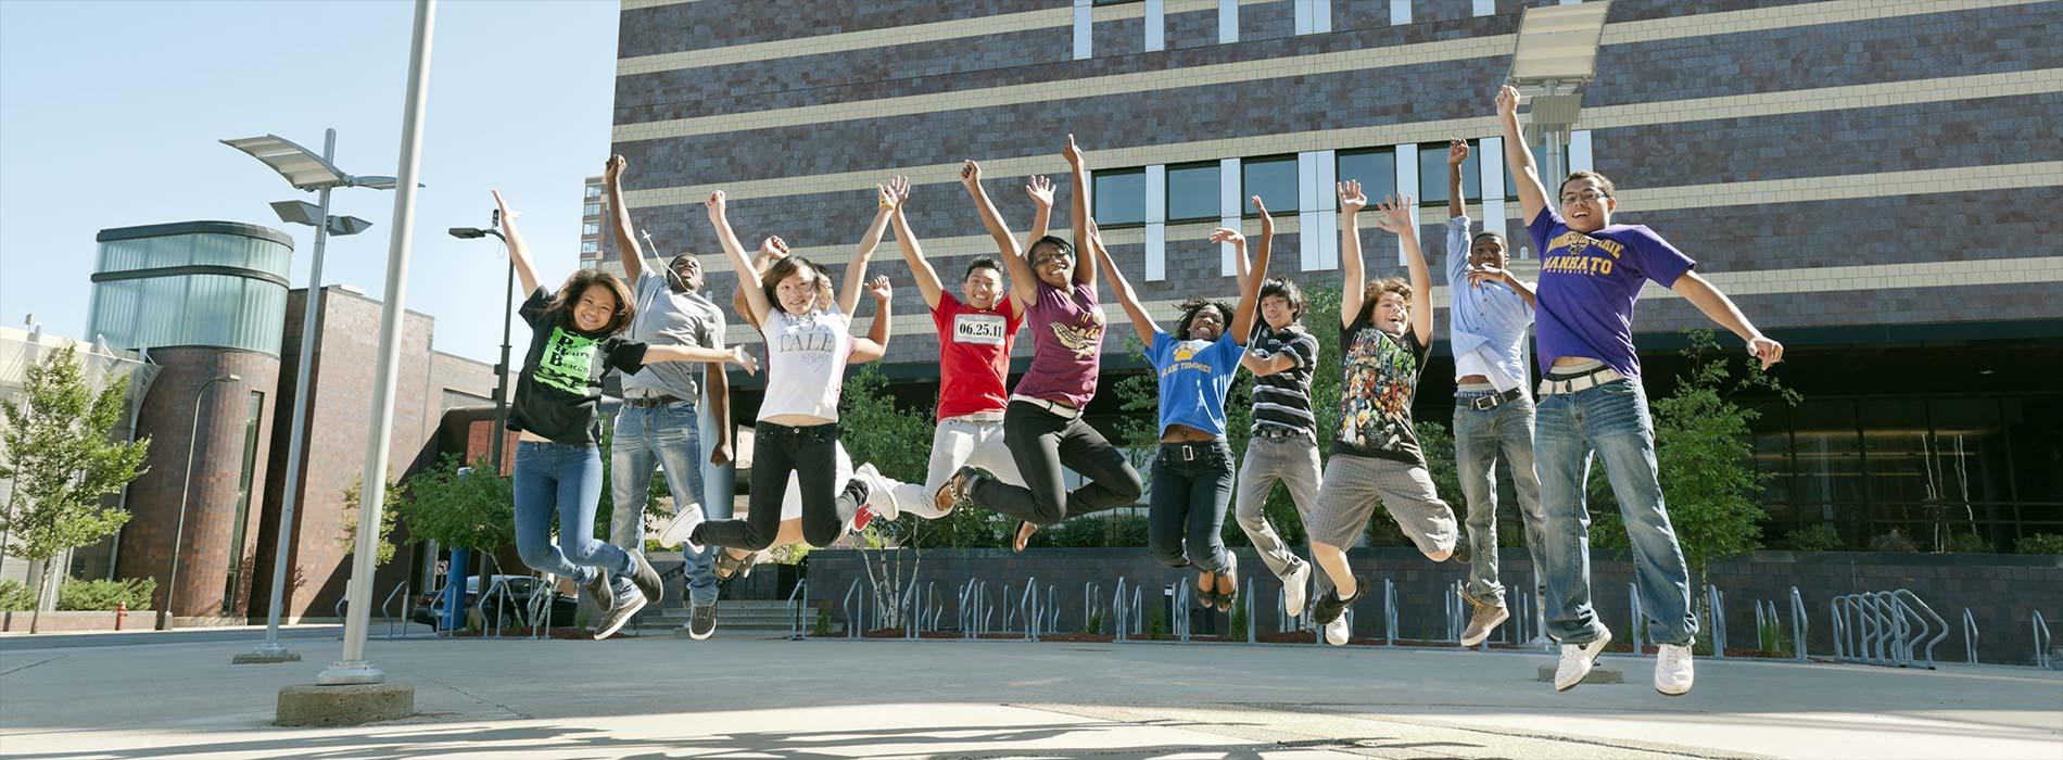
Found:
M 1543 653 L 902 640 L 373 640 L 415 719 L 270 727 L 248 642 L 0 651 L 10 758 L 2063 758 L 2063 673 L 1698 661 L 1556 694 Z

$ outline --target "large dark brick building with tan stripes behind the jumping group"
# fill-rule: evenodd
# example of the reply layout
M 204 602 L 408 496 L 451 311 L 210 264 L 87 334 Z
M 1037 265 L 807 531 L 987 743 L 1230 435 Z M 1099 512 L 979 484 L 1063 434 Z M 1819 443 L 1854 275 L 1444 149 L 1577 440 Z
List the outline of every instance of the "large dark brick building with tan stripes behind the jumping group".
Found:
M 1164 320 L 1188 295 L 1234 293 L 1205 237 L 1256 231 L 1250 194 L 1279 219 L 1273 273 L 1306 289 L 1339 283 L 1339 180 L 1417 196 L 1438 258 L 1450 136 L 1479 157 L 1469 213 L 1529 273 L 1492 103 L 1525 4 L 1543 2 L 625 0 L 613 149 L 637 225 L 703 254 L 718 293 L 734 279 L 710 190 L 728 192 L 747 248 L 778 233 L 836 273 L 873 184 L 910 176 L 910 223 L 953 281 L 992 254 L 959 161 L 982 161 L 1019 233 L 1025 178 L 1056 178 L 1065 235 L 1067 134 L 1089 151 L 1118 264 Z M 1789 345 L 1780 376 L 1805 401 L 1747 399 L 1764 411 L 1768 541 L 1818 525 L 1855 547 L 1945 522 L 1999 549 L 2063 533 L 2063 4 L 1617 0 L 1607 19 L 1570 167 L 1613 178 L 1619 221 L 1661 231 Z M 1364 229 L 1364 250 L 1370 277 L 1403 273 L 1390 235 Z M 930 320 L 893 244 L 871 271 L 904 285 L 887 366 L 922 394 Z M 1659 287 L 1638 312 L 1659 397 L 1683 366 L 1679 330 L 1708 322 Z M 1108 380 L 1139 366 L 1118 337 L 1106 351 L 1104 417 Z M 1436 357 L 1419 419 L 1450 419 L 1450 390 Z

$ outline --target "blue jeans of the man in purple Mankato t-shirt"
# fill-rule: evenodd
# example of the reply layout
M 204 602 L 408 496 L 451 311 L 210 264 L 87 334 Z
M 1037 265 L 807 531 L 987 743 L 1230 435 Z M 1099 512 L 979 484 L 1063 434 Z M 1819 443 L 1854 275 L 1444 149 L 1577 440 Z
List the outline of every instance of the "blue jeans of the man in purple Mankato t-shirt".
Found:
M 1648 397 L 1632 380 L 1541 397 L 1533 454 L 1545 512 L 1537 556 L 1547 580 L 1547 634 L 1564 644 L 1586 644 L 1605 630 L 1591 607 L 1591 512 L 1584 508 L 1584 481 L 1593 450 L 1605 461 L 1611 494 L 1619 500 L 1619 518 L 1634 549 L 1634 584 L 1648 618 L 1648 640 L 1690 644 L 1698 634 L 1690 607 L 1690 570 L 1669 527 L 1669 510 L 1663 508 Z

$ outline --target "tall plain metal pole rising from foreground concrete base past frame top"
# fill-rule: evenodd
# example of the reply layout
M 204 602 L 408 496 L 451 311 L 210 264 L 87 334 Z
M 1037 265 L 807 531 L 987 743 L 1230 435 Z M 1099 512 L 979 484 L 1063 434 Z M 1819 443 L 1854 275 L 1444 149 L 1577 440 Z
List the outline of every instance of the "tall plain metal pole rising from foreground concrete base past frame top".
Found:
M 373 599 L 373 556 L 380 541 L 380 508 L 386 506 L 388 436 L 394 432 L 394 382 L 400 372 L 400 326 L 408 302 L 408 244 L 415 235 L 415 190 L 423 163 L 423 107 L 429 97 L 429 41 L 437 0 L 415 2 L 415 39 L 408 43 L 408 99 L 400 118 L 400 176 L 394 186 L 394 233 L 388 237 L 386 304 L 380 308 L 380 368 L 373 372 L 373 423 L 365 440 L 365 492 L 359 508 L 359 539 L 351 553 L 351 605 L 345 613 L 345 653 L 316 684 L 386 682 L 365 661 L 365 628 Z

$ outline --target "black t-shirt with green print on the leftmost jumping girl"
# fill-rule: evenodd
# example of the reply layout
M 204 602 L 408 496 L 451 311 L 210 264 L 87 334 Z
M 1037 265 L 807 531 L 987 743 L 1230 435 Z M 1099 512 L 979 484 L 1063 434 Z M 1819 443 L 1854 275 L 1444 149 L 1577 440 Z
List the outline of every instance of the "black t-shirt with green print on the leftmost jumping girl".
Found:
M 598 444 L 602 425 L 594 405 L 602 401 L 602 376 L 644 368 L 646 345 L 580 332 L 569 312 L 547 312 L 549 304 L 551 291 L 538 287 L 518 310 L 530 322 L 530 351 L 516 378 L 507 427 L 561 444 Z

